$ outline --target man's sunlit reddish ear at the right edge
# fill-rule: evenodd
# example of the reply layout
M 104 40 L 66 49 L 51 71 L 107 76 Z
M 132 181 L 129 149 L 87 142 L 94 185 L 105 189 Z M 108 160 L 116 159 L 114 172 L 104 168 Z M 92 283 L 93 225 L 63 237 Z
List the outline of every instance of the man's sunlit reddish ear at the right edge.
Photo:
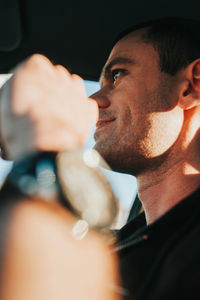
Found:
M 200 59 L 190 63 L 184 69 L 184 81 L 179 94 L 179 106 L 191 109 L 200 106 Z

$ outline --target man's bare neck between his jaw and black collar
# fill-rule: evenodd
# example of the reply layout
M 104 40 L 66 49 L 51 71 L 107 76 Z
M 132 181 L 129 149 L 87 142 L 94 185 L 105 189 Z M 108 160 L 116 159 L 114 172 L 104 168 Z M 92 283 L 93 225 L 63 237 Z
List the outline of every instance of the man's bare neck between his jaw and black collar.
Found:
M 200 187 L 200 172 L 199 168 L 179 161 L 165 172 L 157 170 L 137 180 L 138 194 L 150 224 Z

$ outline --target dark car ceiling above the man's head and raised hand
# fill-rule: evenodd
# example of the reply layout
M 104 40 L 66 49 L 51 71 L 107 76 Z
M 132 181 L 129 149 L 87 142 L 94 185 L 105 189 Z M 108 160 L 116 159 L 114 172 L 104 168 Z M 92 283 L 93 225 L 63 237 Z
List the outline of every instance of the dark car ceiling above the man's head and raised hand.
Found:
M 199 0 L 0 0 L 0 73 L 33 53 L 98 80 L 113 39 L 153 19 L 200 19 Z

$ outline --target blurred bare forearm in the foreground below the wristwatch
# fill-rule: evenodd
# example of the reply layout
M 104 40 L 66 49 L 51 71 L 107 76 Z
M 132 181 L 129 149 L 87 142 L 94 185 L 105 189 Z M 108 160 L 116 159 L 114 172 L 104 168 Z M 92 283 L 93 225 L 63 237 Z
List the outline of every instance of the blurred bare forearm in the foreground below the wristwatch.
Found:
M 78 220 L 66 209 L 39 199 L 19 201 L 10 219 L 1 299 L 121 299 L 117 257 L 100 234 L 75 239 Z

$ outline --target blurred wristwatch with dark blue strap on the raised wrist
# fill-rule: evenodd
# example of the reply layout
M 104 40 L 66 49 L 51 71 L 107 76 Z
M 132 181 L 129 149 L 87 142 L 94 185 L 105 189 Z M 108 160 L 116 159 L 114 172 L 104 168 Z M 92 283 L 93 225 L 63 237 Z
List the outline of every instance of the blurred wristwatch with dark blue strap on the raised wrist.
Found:
M 106 233 L 116 220 L 119 201 L 103 168 L 110 169 L 94 149 L 40 152 L 15 162 L 7 182 L 23 195 L 58 199 L 88 227 Z

